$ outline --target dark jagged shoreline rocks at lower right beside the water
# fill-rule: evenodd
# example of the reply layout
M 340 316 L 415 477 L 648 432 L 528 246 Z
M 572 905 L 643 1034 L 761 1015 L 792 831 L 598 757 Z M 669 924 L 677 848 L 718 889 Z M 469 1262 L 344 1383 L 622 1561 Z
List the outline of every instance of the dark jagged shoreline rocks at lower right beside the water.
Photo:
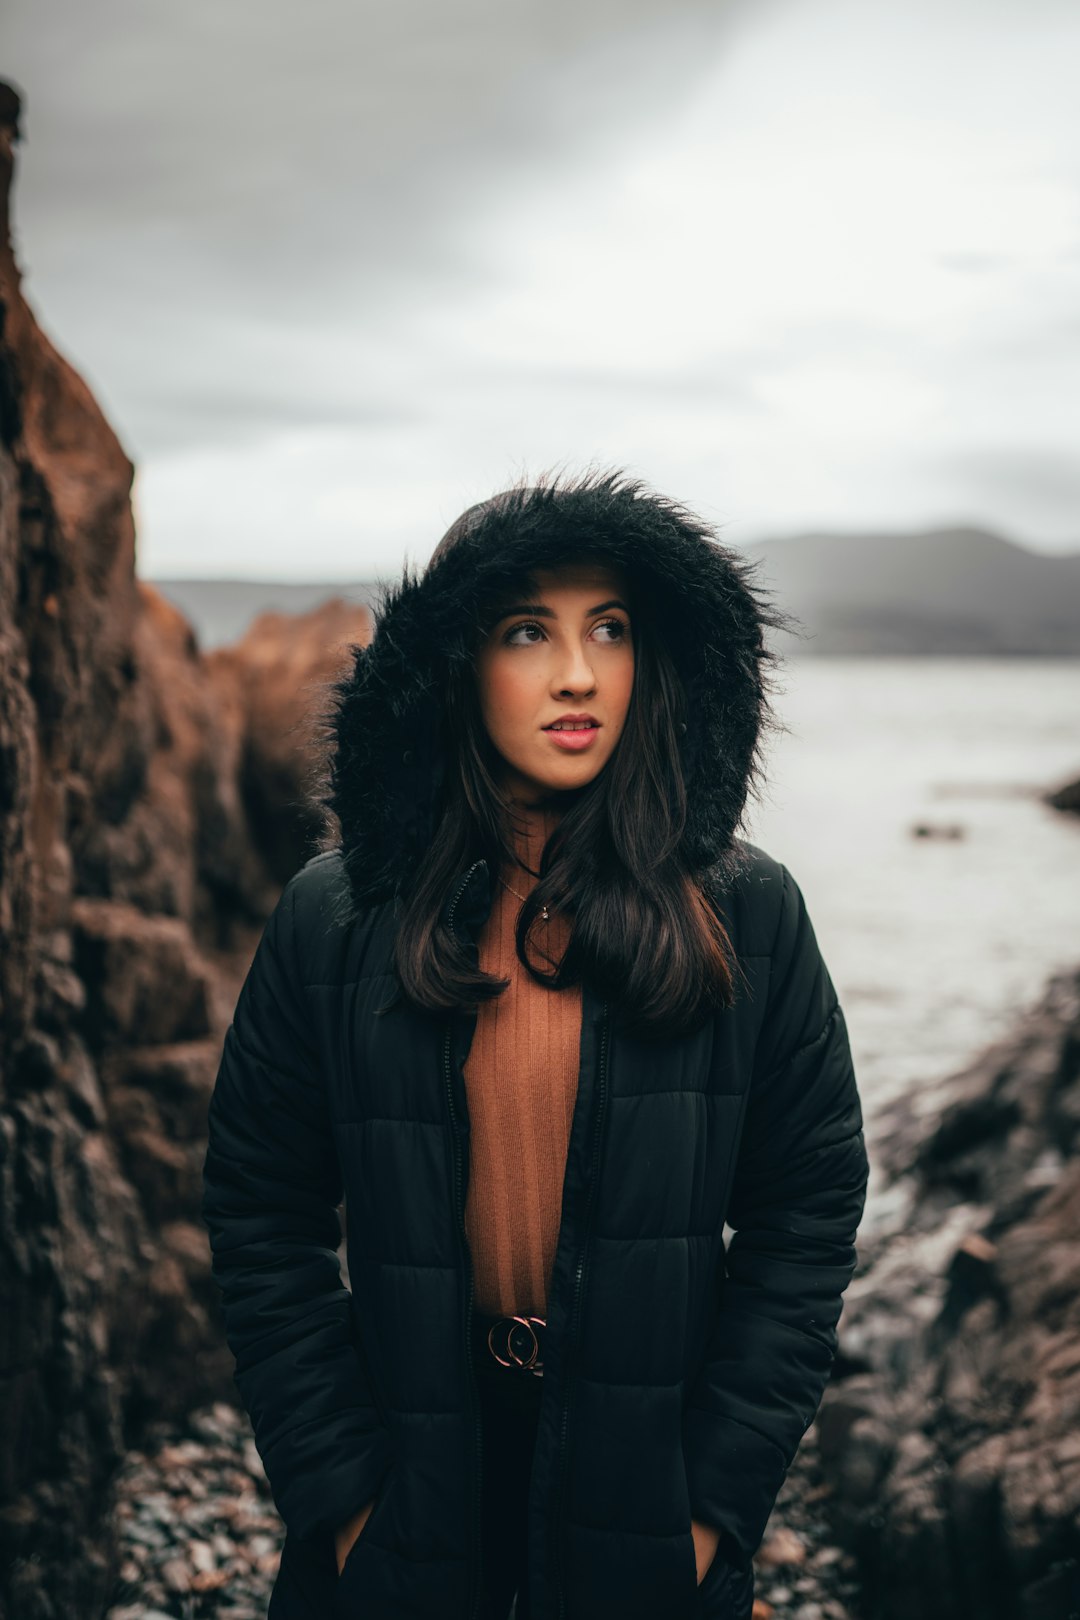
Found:
M 818 1416 L 832 1521 L 881 1620 L 1080 1614 L 1080 972 L 876 1163 Z

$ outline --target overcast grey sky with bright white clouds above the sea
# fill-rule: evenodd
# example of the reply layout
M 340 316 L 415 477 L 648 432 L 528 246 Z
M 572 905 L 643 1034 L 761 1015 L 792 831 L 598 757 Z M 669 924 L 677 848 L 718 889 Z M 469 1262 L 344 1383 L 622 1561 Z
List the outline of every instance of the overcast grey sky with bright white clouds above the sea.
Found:
M 1072 0 L 6 0 L 3 73 L 146 575 L 392 572 L 594 462 L 1080 548 Z

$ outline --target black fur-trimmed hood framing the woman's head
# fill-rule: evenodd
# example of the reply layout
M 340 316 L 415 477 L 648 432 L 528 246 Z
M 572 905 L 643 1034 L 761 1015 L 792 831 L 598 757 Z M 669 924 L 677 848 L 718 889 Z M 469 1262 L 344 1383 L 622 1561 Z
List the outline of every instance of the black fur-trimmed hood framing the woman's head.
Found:
M 453 543 L 447 541 L 453 536 Z M 423 572 L 381 583 L 374 635 L 330 687 L 319 804 L 356 909 L 398 894 L 436 834 L 447 771 L 442 693 L 470 659 L 483 604 L 523 570 L 581 551 L 628 569 L 648 593 L 687 690 L 683 857 L 695 873 L 735 862 L 733 839 L 772 724 L 764 629 L 790 629 L 753 564 L 701 518 L 620 473 L 520 486 L 470 509 Z

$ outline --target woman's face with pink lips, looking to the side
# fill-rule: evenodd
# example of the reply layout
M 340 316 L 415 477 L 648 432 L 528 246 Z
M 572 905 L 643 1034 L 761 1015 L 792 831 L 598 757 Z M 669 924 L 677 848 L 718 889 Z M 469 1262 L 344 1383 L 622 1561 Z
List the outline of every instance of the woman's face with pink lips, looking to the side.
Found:
M 630 580 L 602 562 L 539 569 L 538 591 L 491 627 L 476 658 L 479 706 L 502 786 L 525 802 L 583 787 L 622 735 L 633 690 Z M 588 714 L 588 729 L 552 731 Z

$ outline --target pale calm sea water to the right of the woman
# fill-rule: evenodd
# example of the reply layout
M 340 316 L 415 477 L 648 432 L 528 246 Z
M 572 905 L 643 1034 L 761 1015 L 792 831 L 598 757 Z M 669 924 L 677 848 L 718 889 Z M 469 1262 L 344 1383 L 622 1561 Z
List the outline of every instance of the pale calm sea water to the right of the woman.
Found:
M 1080 967 L 1080 659 L 789 658 L 745 836 L 806 896 L 863 1108 L 936 1082 Z M 915 836 L 916 828 L 933 836 Z

